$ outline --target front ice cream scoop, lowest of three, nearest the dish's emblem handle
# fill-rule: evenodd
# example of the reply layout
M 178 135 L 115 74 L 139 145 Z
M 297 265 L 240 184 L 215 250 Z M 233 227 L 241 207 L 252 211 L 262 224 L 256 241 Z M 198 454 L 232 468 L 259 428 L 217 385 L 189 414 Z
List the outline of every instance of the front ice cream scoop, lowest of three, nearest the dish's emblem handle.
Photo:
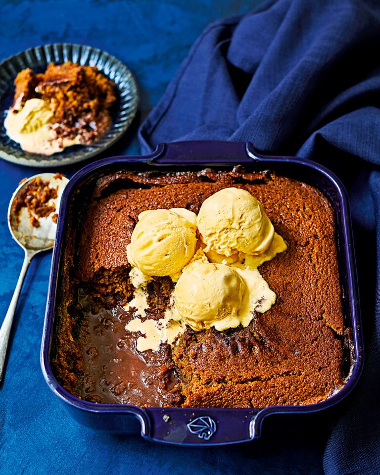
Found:
M 217 330 L 237 327 L 238 310 L 246 290 L 232 267 L 201 262 L 185 271 L 174 289 L 175 307 L 194 330 L 212 325 Z

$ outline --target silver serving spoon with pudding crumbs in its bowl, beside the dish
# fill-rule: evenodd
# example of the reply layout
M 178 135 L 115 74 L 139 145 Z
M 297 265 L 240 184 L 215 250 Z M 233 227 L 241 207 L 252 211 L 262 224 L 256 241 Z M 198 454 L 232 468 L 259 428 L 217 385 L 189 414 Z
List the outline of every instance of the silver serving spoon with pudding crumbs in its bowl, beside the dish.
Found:
M 38 196 L 33 195 L 33 190 L 28 190 L 27 188 L 33 180 L 39 178 L 48 184 L 49 189 L 56 190 L 56 196 L 54 193 L 52 193 L 50 198 L 47 195 L 45 198 L 42 198 L 41 203 Z M 40 173 L 21 182 L 10 199 L 8 207 L 9 231 L 15 241 L 24 249 L 25 256 L 9 309 L 0 328 L 0 381 L 3 377 L 6 349 L 13 317 L 26 271 L 30 261 L 36 254 L 50 250 L 54 245 L 59 202 L 67 183 L 67 178 L 62 175 Z M 27 201 L 32 204 L 29 208 L 26 203 Z M 36 207 L 39 204 L 45 205 L 45 212 L 41 213 L 41 210 L 38 210 L 39 212 L 36 213 Z

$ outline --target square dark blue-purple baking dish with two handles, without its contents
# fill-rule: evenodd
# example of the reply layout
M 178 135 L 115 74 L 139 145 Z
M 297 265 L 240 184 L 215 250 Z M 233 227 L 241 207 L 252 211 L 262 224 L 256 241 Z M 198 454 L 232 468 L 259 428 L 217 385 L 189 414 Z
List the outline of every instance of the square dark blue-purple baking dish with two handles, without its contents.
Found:
M 305 406 L 271 406 L 264 409 L 141 408 L 122 404 L 99 404 L 79 399 L 55 379 L 49 354 L 54 341 L 56 292 L 59 288 L 60 257 L 67 232 L 68 204 L 78 190 L 85 189 L 99 175 L 121 169 L 201 170 L 205 167 L 229 169 L 241 164 L 248 171 L 274 170 L 306 182 L 330 199 L 336 220 L 336 239 L 345 326 L 352 329 L 353 346 L 350 370 L 345 385 L 327 400 Z M 141 432 L 148 440 L 179 445 L 224 445 L 260 437 L 265 418 L 279 414 L 305 414 L 335 406 L 357 383 L 363 367 L 363 342 L 360 324 L 355 257 L 350 212 L 346 191 L 339 179 L 323 166 L 300 158 L 258 154 L 251 143 L 173 142 L 159 144 L 147 156 L 111 157 L 87 165 L 74 175 L 63 192 L 51 264 L 47 309 L 41 348 L 41 366 L 51 390 L 78 422 L 115 433 Z M 289 416 L 285 419 L 289 421 Z M 290 416 L 291 419 L 291 416 Z M 289 425 L 288 422 L 285 424 Z

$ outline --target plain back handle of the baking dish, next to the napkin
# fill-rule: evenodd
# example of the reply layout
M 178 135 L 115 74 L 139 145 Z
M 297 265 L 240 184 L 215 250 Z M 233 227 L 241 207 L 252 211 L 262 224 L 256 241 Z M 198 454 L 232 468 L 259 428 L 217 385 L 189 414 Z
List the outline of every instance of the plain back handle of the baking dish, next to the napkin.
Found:
M 251 144 L 250 148 L 252 148 Z M 154 165 L 204 165 L 252 163 L 248 155 L 248 143 L 189 141 L 160 143 L 158 152 L 151 160 Z

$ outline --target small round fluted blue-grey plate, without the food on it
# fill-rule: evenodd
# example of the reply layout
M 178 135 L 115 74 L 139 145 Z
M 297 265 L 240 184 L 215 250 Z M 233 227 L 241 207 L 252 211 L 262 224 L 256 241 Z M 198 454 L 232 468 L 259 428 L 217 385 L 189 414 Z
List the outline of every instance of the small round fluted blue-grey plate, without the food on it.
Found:
M 118 100 L 112 111 L 111 127 L 100 141 L 93 145 L 74 145 L 49 157 L 26 153 L 18 143 L 7 136 L 4 128 L 6 113 L 13 103 L 14 79 L 22 69 L 29 67 L 35 73 L 42 73 L 49 62 L 60 64 L 65 61 L 96 66 L 115 83 Z M 4 160 L 30 167 L 51 167 L 81 162 L 94 157 L 120 139 L 135 117 L 139 96 L 131 71 L 114 56 L 100 49 L 68 43 L 39 46 L 5 59 L 0 67 L 0 157 Z

